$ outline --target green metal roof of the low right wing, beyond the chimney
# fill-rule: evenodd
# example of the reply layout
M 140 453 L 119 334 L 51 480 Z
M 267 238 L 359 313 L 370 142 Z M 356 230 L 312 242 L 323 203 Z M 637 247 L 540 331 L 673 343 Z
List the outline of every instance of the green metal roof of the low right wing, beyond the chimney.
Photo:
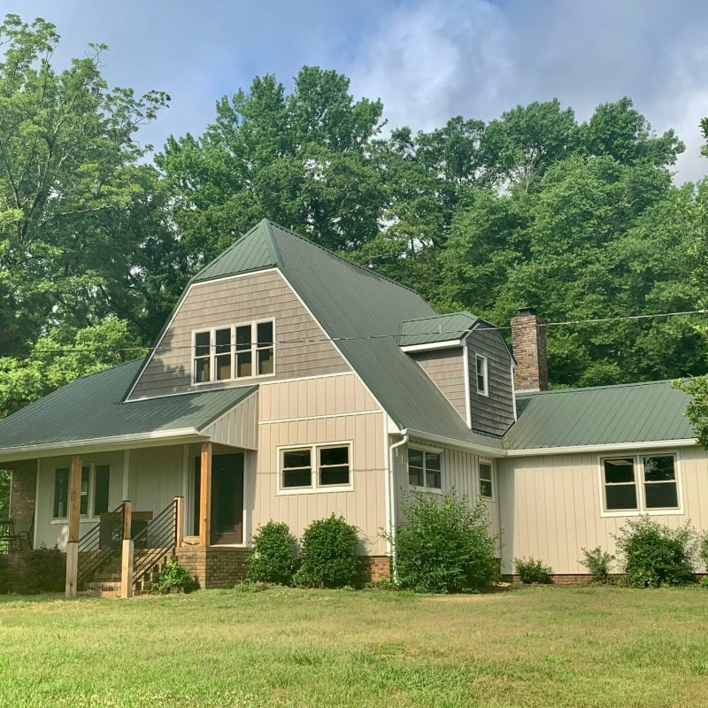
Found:
M 563 389 L 517 396 L 507 450 L 690 440 L 689 396 L 670 381 Z

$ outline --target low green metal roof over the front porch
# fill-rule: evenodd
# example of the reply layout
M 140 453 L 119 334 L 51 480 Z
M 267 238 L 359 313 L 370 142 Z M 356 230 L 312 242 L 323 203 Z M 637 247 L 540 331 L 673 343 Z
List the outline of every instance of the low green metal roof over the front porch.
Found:
M 257 386 L 122 403 L 143 359 L 84 376 L 0 420 L 0 454 L 13 448 L 169 430 L 201 430 Z

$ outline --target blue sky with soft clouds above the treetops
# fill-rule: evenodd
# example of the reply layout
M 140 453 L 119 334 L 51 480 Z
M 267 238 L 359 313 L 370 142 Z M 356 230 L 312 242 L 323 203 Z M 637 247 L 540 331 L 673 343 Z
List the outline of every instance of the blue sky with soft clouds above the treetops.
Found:
M 391 126 L 452 115 L 491 119 L 558 97 L 579 119 L 631 96 L 657 130 L 687 144 L 677 180 L 708 173 L 708 4 L 698 0 L 0 0 L 3 14 L 57 25 L 58 63 L 104 42 L 104 74 L 163 89 L 169 110 L 143 130 L 200 134 L 216 100 L 255 74 L 289 84 L 304 64 L 334 68 L 356 96 L 380 97 Z

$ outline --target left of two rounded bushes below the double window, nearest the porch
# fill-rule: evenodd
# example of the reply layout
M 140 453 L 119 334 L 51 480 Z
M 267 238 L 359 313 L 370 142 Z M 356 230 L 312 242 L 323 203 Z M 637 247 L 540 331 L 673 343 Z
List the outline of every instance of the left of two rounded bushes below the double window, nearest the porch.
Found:
M 296 546 L 288 524 L 268 521 L 253 536 L 246 577 L 251 582 L 289 585 L 295 572 Z

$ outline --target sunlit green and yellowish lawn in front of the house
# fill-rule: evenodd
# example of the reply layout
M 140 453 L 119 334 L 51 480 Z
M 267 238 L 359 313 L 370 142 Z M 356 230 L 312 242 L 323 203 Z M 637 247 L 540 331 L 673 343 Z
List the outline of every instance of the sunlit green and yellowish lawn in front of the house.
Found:
M 708 706 L 704 589 L 0 597 L 0 705 Z

